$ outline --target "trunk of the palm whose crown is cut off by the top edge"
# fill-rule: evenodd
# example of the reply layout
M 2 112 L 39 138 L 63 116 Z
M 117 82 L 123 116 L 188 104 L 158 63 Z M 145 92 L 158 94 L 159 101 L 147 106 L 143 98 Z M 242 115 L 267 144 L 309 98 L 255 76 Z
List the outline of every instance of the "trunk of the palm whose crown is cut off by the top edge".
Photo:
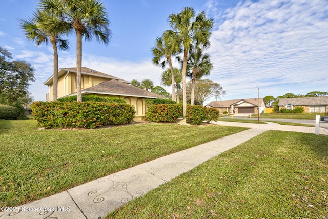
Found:
M 82 33 L 76 31 L 76 88 L 77 88 L 77 101 L 82 102 L 81 90 L 81 69 L 82 69 Z

